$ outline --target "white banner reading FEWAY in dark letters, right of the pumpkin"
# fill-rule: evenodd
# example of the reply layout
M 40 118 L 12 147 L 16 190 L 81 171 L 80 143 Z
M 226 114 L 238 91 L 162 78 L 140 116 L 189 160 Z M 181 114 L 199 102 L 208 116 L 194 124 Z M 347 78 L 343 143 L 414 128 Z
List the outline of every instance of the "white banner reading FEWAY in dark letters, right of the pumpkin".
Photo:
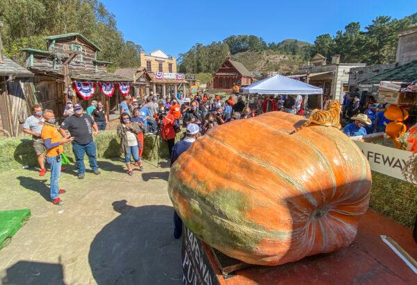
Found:
M 379 144 L 354 141 L 368 159 L 370 170 L 393 178 L 408 181 L 402 176 L 402 169 L 413 153 Z

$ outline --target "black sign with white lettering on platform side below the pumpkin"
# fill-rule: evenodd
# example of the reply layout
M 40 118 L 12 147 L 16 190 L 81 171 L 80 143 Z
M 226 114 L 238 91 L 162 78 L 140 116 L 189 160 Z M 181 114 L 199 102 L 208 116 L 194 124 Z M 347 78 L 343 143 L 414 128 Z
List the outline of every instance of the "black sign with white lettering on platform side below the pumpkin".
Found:
M 182 284 L 218 284 L 218 278 L 207 257 L 202 241 L 183 227 Z

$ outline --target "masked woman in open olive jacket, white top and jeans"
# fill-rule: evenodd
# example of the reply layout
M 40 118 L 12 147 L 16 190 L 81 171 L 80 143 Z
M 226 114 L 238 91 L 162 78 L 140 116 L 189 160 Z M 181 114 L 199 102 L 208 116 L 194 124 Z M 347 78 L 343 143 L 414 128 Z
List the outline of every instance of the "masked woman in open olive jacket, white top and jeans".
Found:
M 117 137 L 120 137 L 120 150 L 124 153 L 127 173 L 132 176 L 131 157 L 138 163 L 139 170 L 143 171 L 142 160 L 139 157 L 139 141 L 137 134 L 142 132 L 138 123 L 131 121 L 127 113 L 120 116 L 120 124 L 117 126 Z

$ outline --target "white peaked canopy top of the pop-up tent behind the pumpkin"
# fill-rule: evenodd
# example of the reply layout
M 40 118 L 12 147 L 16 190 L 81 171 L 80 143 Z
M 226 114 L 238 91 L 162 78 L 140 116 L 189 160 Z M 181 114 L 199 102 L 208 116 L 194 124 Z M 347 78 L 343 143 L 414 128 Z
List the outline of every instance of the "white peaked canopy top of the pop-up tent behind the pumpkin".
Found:
M 243 88 L 243 93 L 309 95 L 322 94 L 323 90 L 320 87 L 309 85 L 299 80 L 294 80 L 293 78 L 288 78 L 278 74 Z

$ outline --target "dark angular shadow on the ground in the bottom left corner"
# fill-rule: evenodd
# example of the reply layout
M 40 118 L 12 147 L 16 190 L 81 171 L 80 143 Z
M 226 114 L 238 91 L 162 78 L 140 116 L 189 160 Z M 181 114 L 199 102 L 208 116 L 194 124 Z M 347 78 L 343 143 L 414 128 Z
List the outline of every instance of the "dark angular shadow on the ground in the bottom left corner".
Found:
M 6 270 L 1 284 L 65 284 L 63 266 L 35 261 L 18 261 Z

